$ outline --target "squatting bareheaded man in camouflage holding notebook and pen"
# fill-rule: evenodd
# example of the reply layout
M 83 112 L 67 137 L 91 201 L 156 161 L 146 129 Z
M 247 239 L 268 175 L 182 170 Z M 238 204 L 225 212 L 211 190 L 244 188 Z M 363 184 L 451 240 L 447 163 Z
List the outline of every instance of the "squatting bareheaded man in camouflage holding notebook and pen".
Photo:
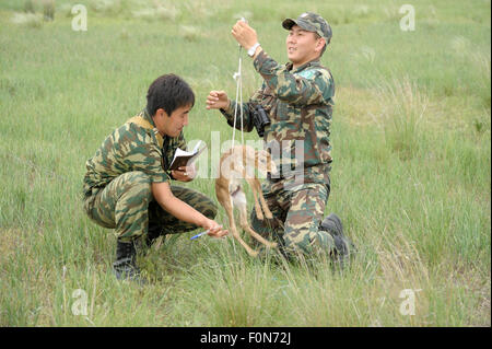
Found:
M 165 74 L 149 88 L 147 107 L 117 128 L 86 162 L 84 209 L 98 225 L 115 229 L 118 279 L 140 279 L 136 244 L 161 234 L 201 226 L 209 235 L 227 232 L 213 221 L 215 205 L 204 195 L 171 185 L 189 182 L 190 167 L 168 171 L 177 148 L 186 149 L 183 128 L 195 94 L 179 77 Z

